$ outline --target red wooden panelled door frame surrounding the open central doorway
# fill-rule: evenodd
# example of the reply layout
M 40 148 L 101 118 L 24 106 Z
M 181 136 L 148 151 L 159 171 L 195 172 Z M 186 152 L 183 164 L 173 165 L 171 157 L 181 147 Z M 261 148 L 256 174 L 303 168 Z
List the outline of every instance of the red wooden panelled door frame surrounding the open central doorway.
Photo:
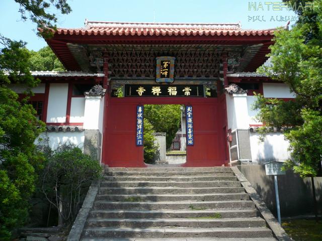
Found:
M 135 145 L 136 106 L 144 104 L 184 104 L 193 106 L 194 146 L 187 146 L 183 167 L 227 165 L 222 126 L 226 113 L 218 98 L 105 96 L 102 163 L 110 167 L 146 167 L 143 146 Z

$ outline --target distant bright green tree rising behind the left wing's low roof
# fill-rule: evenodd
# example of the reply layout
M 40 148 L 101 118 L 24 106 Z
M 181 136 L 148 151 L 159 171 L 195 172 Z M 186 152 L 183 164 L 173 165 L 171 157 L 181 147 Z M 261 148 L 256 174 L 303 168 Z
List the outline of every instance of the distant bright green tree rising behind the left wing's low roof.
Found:
M 30 51 L 31 71 L 63 71 L 64 67 L 59 59 L 52 52 L 49 46 L 41 48 L 39 51 Z

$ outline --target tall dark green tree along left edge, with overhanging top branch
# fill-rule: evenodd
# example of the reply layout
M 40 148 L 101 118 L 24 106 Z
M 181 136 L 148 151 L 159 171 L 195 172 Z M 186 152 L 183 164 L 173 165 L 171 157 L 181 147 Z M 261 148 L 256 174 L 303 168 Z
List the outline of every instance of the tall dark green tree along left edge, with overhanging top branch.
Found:
M 57 19 L 49 14 L 54 7 L 62 14 L 70 12 L 65 0 L 16 0 L 23 20 L 27 16 L 51 33 Z M 13 41 L 0 33 L 0 240 L 11 240 L 11 232 L 22 225 L 28 214 L 28 201 L 35 189 L 36 172 L 41 168 L 42 155 L 34 141 L 44 130 L 37 121 L 35 110 L 27 100 L 18 101 L 18 95 L 8 87 L 22 83 L 28 88 L 39 82 L 30 74 L 30 53 L 23 41 Z M 31 91 L 26 93 L 31 94 Z

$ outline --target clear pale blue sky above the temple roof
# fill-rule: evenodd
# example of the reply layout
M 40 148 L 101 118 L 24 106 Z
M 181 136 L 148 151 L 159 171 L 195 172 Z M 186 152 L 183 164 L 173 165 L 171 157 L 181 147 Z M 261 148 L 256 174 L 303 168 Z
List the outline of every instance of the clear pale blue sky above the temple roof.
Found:
M 82 28 L 85 19 L 108 22 L 241 23 L 243 29 L 271 29 L 295 23 L 295 14 L 282 1 L 248 0 L 67 0 L 72 12 L 57 14 L 57 27 Z M 274 3 L 274 6 L 273 6 Z M 22 21 L 14 0 L 0 0 L 0 33 L 27 42 L 39 50 L 46 42 L 36 35 L 36 25 Z M 56 11 L 52 10 L 52 13 Z

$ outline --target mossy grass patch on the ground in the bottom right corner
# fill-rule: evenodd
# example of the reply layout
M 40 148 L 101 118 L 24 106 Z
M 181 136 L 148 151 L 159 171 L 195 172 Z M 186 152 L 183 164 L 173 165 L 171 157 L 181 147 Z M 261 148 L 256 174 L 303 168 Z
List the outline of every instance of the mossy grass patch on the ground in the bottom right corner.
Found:
M 287 234 L 295 241 L 320 241 L 322 240 L 322 220 L 315 219 L 290 219 L 282 222 Z

